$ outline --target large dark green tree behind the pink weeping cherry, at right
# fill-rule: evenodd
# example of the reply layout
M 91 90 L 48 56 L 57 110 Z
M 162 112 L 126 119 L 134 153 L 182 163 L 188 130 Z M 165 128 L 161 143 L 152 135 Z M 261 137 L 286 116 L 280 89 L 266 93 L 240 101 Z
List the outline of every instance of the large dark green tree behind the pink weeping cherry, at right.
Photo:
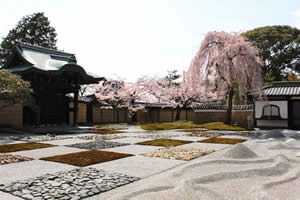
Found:
M 266 85 L 300 73 L 300 30 L 290 26 L 265 26 L 242 34 L 259 49 Z

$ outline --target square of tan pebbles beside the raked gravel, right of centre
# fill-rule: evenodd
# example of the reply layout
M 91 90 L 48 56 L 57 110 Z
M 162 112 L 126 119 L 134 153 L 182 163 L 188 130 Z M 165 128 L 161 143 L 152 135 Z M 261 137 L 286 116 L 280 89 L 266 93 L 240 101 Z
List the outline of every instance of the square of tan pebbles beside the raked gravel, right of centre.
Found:
M 196 148 L 181 148 L 181 147 L 168 147 L 158 149 L 150 153 L 141 154 L 148 157 L 158 157 L 175 160 L 189 161 L 194 158 L 214 152 L 213 149 L 196 149 Z

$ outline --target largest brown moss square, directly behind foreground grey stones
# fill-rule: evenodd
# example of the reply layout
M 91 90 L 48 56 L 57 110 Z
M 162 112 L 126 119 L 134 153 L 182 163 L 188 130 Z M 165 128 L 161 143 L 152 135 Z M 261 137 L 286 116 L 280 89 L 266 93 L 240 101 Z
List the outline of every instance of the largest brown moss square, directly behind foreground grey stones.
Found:
M 88 165 L 117 160 L 129 156 L 133 156 L 133 155 L 91 150 L 91 151 L 83 151 L 78 153 L 69 153 L 69 154 L 53 156 L 53 157 L 45 157 L 45 158 L 40 158 L 40 160 L 53 161 L 53 162 L 59 162 L 59 163 L 64 163 L 69 165 L 75 165 L 79 167 L 85 167 Z

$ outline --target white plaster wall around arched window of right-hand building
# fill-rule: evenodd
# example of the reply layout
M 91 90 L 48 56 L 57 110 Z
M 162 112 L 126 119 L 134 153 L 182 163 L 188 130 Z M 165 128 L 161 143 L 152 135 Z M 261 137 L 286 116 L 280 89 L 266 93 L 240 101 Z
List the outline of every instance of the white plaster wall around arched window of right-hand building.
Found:
M 280 117 L 288 119 L 288 102 L 287 101 L 255 101 L 255 118 L 262 117 L 263 107 L 265 105 L 276 105 L 280 108 Z

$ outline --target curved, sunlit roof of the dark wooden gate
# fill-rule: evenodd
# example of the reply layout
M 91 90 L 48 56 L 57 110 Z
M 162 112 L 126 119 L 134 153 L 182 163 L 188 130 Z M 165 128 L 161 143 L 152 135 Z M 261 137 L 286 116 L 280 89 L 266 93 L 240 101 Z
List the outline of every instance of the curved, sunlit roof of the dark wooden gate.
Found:
M 14 59 L 19 59 L 20 62 L 16 64 Z M 82 77 L 81 84 L 97 83 L 103 79 L 87 73 L 77 65 L 75 54 L 23 43 L 16 44 L 5 68 L 20 74 L 32 71 L 56 75 L 66 71 L 78 72 Z

